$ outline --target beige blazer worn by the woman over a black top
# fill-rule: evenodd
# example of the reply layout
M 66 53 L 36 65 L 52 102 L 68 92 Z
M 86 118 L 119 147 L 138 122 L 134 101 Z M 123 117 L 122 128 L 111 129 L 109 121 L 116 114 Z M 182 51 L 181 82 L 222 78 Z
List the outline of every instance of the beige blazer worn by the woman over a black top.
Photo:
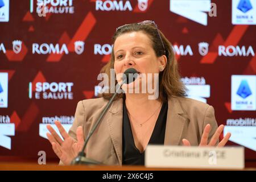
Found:
M 77 140 L 76 129 L 82 126 L 86 138 L 107 103 L 104 98 L 79 101 L 69 135 Z M 87 158 L 122 165 L 122 119 L 123 100 L 119 99 L 113 102 L 90 138 L 85 150 Z M 198 146 L 208 123 L 212 126 L 210 139 L 217 129 L 213 107 L 190 98 L 172 97 L 168 100 L 164 145 L 182 145 L 181 140 L 185 138 L 191 145 Z

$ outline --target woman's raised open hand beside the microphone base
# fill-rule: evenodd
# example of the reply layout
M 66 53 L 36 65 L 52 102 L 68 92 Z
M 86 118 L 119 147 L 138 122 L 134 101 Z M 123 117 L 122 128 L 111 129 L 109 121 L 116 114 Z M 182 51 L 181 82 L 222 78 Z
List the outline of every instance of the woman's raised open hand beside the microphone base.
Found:
M 47 129 L 50 132 L 46 134 L 47 138 L 49 142 L 51 142 L 52 149 L 60 158 L 61 162 L 63 162 L 65 165 L 69 165 L 82 150 L 82 146 L 84 145 L 84 134 L 82 133 L 82 127 L 77 127 L 76 142 L 76 140 L 68 135 L 59 121 L 55 121 L 55 125 L 57 126 L 57 129 L 60 131 L 60 134 L 64 140 L 61 139 L 51 125 L 47 125 Z

